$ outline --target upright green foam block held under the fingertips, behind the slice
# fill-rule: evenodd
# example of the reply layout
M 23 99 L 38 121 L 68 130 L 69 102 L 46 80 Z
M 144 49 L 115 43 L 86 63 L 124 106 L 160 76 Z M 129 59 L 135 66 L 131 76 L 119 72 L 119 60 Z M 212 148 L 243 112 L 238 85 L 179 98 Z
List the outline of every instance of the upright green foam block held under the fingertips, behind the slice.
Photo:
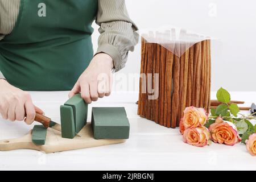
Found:
M 75 131 L 76 133 L 79 133 L 87 122 L 88 104 L 86 104 L 82 99 L 81 94 L 76 94 L 65 102 L 64 105 L 72 107 L 75 121 Z

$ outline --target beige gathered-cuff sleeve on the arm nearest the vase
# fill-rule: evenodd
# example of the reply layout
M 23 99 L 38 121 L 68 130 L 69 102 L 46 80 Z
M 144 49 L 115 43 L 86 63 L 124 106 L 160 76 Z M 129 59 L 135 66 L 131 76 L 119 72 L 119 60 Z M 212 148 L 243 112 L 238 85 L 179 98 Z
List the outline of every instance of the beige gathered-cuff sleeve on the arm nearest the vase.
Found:
M 138 28 L 130 19 L 125 0 L 99 0 L 96 23 L 100 26 L 97 53 L 104 52 L 114 61 L 114 71 L 125 67 L 128 52 L 138 43 Z

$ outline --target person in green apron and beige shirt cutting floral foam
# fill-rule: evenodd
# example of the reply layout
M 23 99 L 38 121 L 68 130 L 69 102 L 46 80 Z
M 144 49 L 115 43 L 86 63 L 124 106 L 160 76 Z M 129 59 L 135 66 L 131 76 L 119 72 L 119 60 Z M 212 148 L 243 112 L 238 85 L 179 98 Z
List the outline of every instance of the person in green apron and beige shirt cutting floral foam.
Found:
M 101 34 L 95 54 L 94 20 Z M 109 96 L 110 77 L 125 67 L 137 30 L 125 0 L 0 0 L 2 118 L 31 124 L 43 113 L 28 90 L 71 90 L 69 97 L 81 93 L 88 104 Z

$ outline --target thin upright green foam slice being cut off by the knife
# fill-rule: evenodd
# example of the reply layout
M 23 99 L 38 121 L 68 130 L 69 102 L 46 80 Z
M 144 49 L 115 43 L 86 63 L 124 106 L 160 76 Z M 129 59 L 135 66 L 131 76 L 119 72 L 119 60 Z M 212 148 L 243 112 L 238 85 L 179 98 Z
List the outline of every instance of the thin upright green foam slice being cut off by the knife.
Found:
M 60 106 L 61 137 L 74 138 L 76 136 L 73 109 L 71 106 Z

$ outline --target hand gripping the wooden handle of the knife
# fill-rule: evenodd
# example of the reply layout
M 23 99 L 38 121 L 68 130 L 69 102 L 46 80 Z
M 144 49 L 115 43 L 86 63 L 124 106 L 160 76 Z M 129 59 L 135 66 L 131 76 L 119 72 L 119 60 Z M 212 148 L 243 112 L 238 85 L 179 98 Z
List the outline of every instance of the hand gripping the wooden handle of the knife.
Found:
M 43 111 L 36 107 L 28 92 L 24 92 L 6 80 L 0 79 L 0 113 L 3 119 L 25 121 L 28 125 L 34 122 L 37 113 Z M 25 118 L 26 117 L 26 118 Z

